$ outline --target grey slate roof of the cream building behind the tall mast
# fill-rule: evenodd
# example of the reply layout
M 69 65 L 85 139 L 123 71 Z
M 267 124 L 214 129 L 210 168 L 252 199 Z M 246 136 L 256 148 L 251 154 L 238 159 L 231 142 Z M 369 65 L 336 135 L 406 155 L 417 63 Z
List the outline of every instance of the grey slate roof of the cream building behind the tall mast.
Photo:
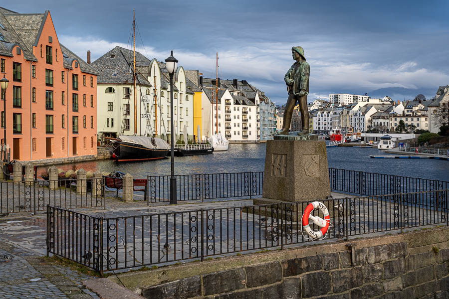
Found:
M 148 62 L 150 60 L 144 55 L 136 52 L 137 62 Z M 99 75 L 97 77 L 98 84 L 132 84 L 133 80 L 133 51 L 116 46 L 94 62 Z M 142 74 L 137 74 L 137 83 L 144 86 L 152 86 L 150 82 Z

